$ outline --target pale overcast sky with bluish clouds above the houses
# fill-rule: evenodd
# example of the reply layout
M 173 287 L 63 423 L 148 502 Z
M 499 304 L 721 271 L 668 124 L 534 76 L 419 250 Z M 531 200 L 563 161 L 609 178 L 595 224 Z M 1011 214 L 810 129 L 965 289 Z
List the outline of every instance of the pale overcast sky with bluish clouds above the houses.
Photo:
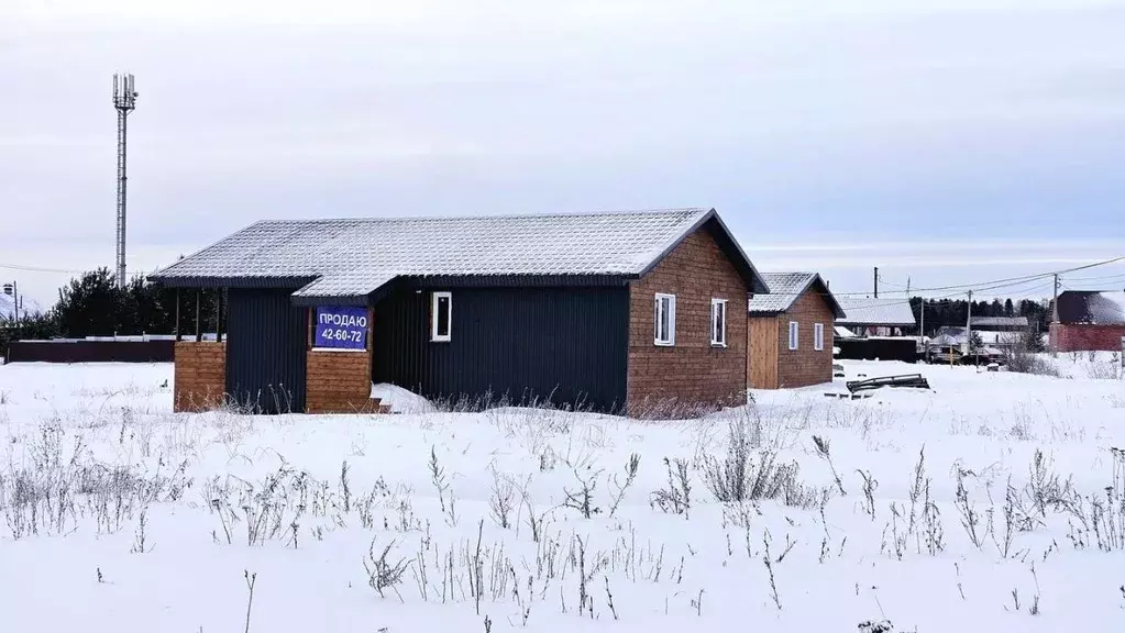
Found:
M 837 291 L 1081 265 L 1125 255 L 1123 33 L 1125 0 L 6 0 L 0 265 L 112 265 L 116 70 L 130 272 L 260 218 L 680 206 Z

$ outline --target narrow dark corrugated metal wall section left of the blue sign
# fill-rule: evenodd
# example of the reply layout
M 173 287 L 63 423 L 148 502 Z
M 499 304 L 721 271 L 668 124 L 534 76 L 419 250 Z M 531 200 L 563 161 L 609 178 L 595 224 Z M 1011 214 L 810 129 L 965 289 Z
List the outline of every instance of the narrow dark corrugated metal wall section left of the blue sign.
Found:
M 226 389 L 240 406 L 278 414 L 305 410 L 305 308 L 290 290 L 231 289 Z

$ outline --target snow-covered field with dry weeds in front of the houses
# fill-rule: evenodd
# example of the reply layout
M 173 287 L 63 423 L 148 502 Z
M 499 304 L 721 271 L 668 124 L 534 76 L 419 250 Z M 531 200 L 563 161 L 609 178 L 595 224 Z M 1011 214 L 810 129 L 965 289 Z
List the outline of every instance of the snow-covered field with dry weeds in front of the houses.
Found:
M 1052 362 L 676 422 L 174 415 L 170 365 L 0 367 L 0 630 L 1123 631 L 1125 381 Z

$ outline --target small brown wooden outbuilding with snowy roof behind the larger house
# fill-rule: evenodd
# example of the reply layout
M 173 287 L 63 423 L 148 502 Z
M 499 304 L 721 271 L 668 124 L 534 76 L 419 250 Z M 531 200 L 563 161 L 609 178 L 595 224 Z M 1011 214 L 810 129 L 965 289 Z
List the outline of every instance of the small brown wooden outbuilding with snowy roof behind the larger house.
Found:
M 768 295 L 749 302 L 747 376 L 753 389 L 807 387 L 832 380 L 839 302 L 819 274 L 763 273 Z

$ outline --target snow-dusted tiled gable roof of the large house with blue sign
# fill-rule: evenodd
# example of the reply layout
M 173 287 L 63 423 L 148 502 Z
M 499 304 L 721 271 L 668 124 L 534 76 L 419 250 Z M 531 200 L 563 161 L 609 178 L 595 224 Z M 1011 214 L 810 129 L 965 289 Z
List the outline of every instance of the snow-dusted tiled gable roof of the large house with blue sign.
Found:
M 768 290 L 714 209 L 447 218 L 263 220 L 163 269 L 169 287 L 299 289 L 366 298 L 412 278 L 636 279 L 706 229 L 752 291 Z

